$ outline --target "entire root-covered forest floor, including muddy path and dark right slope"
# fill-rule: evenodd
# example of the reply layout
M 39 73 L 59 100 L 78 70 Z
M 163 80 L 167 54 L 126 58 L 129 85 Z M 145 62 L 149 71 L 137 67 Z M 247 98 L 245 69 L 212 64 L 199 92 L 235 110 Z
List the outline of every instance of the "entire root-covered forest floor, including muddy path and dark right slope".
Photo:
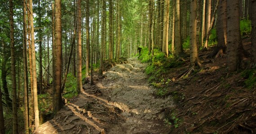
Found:
M 250 37 L 243 46 L 251 53 Z M 214 49 L 200 51 L 199 58 Z M 228 72 L 226 62 L 224 54 L 186 76 L 186 58 L 149 81 L 148 64 L 128 59 L 103 78 L 94 75 L 94 85 L 84 84 L 84 92 L 34 134 L 254 134 L 256 69 L 250 69 L 250 57 L 236 72 Z

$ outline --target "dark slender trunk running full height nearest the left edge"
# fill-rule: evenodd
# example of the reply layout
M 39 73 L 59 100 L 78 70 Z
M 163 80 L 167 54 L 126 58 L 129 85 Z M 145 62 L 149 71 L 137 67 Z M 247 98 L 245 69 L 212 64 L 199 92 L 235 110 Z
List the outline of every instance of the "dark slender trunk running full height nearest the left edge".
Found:
M 13 24 L 13 0 L 9 0 L 10 40 L 11 40 L 11 70 L 12 70 L 12 96 L 13 96 L 13 134 L 18 134 L 18 109 L 15 69 L 14 24 Z

